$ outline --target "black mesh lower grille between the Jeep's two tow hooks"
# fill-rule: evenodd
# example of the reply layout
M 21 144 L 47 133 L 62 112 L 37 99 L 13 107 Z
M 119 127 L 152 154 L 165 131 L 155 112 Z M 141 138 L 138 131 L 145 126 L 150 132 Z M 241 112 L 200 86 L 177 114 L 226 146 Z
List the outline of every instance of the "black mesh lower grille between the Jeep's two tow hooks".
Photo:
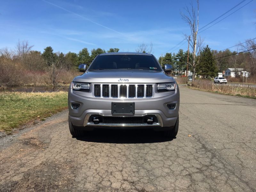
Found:
M 142 124 L 143 117 L 103 117 L 103 121 L 110 124 Z

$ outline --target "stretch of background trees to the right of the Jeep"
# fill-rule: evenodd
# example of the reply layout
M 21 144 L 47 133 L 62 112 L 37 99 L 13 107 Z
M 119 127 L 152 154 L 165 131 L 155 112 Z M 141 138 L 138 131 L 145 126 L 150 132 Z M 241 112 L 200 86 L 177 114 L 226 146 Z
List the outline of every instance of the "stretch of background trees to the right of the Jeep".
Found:
M 256 77 L 256 42 L 249 41 L 246 44 L 240 45 L 236 51 L 229 49 L 217 51 L 212 50 L 209 45 L 204 46 L 198 55 L 195 57 L 197 63 L 195 72 L 197 76 L 214 77 L 218 72 L 223 72 L 227 68 L 235 69 L 235 76 L 238 77 L 238 68 L 243 68 L 245 71 L 250 72 L 250 76 Z M 241 51 L 252 51 L 239 53 Z M 237 54 L 238 53 L 238 54 Z M 161 64 L 171 64 L 174 68 L 174 74 L 180 74 L 187 70 L 187 51 L 180 49 L 177 53 L 165 53 L 159 57 L 158 61 Z M 189 52 L 188 63 L 192 63 L 193 55 Z M 192 66 L 189 65 L 189 71 L 192 71 Z

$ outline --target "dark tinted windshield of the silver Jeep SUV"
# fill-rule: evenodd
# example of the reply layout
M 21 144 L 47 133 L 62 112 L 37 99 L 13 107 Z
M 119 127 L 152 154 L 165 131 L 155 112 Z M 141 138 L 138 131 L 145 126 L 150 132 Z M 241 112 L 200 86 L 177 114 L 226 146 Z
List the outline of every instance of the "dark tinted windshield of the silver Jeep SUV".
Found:
M 89 71 L 103 69 L 140 69 L 162 71 L 152 55 L 113 54 L 98 55 L 89 67 Z

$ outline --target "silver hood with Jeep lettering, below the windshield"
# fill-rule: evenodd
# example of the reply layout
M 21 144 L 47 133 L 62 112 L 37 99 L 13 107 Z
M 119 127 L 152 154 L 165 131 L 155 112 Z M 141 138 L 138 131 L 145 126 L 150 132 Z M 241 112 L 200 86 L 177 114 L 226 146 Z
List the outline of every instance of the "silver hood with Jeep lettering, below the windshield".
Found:
M 74 81 L 84 83 L 167 83 L 173 78 L 163 71 L 115 69 L 86 71 Z

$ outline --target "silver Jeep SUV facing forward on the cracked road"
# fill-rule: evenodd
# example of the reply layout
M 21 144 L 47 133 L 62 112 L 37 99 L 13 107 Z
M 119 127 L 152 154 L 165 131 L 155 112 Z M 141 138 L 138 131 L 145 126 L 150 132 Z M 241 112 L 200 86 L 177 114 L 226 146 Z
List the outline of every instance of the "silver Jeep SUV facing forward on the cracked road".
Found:
M 81 137 L 94 128 L 153 128 L 175 137 L 179 129 L 180 92 L 152 54 L 104 53 L 83 75 L 76 76 L 68 91 L 69 130 Z

